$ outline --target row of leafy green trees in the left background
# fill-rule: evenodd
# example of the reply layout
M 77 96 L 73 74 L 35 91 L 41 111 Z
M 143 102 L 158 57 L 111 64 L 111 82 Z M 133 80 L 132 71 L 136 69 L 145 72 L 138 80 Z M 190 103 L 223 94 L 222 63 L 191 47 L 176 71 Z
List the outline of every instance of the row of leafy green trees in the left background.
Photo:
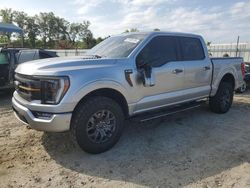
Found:
M 53 12 L 42 12 L 31 17 L 22 11 L 2 9 L 0 16 L 3 22 L 14 23 L 21 27 L 24 31 L 25 45 L 33 48 L 91 48 L 103 40 L 100 37 L 97 39 L 93 37 L 89 21 L 70 23 Z M 131 29 L 131 31 L 136 30 Z M 8 35 L 9 41 L 10 36 Z M 1 41 L 4 41 L 4 37 L 1 37 Z M 18 41 L 20 39 L 15 38 L 12 43 L 16 44 Z

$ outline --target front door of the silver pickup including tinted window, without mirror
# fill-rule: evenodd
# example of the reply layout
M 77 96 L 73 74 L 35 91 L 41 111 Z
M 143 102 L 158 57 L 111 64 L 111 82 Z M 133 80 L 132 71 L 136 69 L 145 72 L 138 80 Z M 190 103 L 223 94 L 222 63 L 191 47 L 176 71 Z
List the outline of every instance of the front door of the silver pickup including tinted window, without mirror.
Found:
M 175 36 L 156 36 L 152 38 L 136 57 L 136 65 L 140 70 L 143 64 L 152 67 L 155 85 L 144 87 L 137 82 L 138 101 L 135 111 L 146 111 L 165 106 L 175 101 L 183 88 L 184 64 L 179 61 L 180 49 Z M 138 76 L 139 77 L 139 76 Z

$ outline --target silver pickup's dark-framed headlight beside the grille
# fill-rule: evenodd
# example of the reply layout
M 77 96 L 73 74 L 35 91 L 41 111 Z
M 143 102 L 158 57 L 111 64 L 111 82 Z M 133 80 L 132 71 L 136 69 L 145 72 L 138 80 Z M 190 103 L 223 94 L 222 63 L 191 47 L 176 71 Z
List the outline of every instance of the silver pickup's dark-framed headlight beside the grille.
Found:
M 41 103 L 58 104 L 69 89 L 68 77 L 40 78 Z

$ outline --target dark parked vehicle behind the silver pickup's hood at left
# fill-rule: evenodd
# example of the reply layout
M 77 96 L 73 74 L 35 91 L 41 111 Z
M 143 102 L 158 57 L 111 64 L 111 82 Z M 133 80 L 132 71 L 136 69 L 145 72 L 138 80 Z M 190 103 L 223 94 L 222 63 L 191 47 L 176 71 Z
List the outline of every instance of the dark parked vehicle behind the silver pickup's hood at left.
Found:
M 0 90 L 14 87 L 14 71 L 24 62 L 57 57 L 53 51 L 41 49 L 0 48 Z

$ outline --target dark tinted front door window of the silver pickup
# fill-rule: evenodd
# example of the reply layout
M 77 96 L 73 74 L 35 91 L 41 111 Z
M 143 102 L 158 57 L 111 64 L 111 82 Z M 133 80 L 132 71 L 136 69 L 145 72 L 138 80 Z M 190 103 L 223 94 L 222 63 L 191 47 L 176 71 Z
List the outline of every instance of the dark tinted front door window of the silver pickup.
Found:
M 136 58 L 137 66 L 160 67 L 170 61 L 177 61 L 176 39 L 171 36 L 153 38 Z

